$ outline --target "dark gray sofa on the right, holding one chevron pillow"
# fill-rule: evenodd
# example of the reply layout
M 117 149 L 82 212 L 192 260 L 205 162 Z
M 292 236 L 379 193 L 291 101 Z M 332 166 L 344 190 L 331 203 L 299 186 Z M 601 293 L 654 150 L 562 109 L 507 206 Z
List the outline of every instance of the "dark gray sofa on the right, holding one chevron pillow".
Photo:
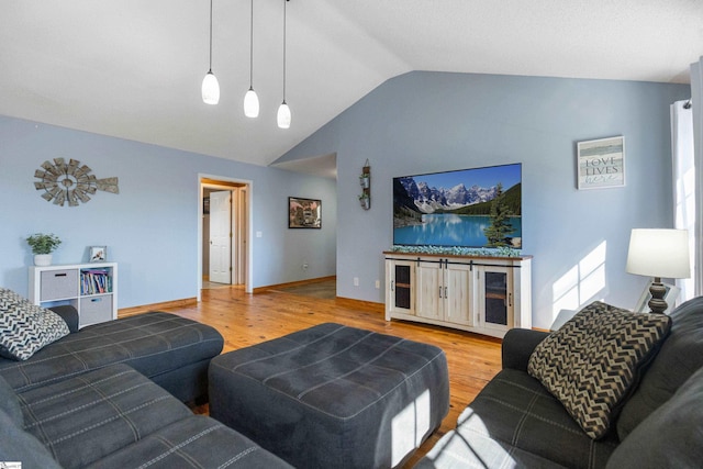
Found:
M 670 317 L 658 353 L 614 409 L 610 431 L 596 439 L 528 372 L 533 351 L 549 334 L 510 331 L 502 371 L 415 468 L 701 467 L 703 297 Z

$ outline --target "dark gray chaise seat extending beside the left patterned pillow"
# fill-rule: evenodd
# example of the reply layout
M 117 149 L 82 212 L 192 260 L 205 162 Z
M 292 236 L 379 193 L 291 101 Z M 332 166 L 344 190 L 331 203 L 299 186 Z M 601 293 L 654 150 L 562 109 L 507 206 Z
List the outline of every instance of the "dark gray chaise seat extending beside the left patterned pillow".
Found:
M 26 361 L 0 360 L 0 375 L 15 391 L 118 362 L 157 379 L 209 360 L 220 354 L 223 344 L 222 335 L 211 326 L 176 314 L 150 312 L 83 327 Z

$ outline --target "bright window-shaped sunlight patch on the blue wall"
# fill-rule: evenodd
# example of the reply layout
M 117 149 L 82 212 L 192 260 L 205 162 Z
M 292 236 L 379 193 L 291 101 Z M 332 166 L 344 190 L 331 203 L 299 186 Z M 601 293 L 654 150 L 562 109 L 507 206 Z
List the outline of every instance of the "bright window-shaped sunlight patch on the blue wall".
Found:
M 551 286 L 551 317 L 559 311 L 578 311 L 605 288 L 606 242 L 603 241 Z

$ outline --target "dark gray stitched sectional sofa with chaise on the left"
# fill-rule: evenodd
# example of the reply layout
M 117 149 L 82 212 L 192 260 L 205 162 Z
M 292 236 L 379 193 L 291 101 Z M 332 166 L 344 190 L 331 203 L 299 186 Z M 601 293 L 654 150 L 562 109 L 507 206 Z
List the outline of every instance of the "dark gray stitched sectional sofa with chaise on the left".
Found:
M 152 312 L 71 331 L 0 359 L 0 461 L 53 468 L 290 468 L 182 401 L 207 397 L 216 330 Z

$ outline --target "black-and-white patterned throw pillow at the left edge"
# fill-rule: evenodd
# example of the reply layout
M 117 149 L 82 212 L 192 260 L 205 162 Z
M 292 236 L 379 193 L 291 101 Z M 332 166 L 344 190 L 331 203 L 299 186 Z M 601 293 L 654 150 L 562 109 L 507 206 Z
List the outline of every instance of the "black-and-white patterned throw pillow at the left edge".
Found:
M 0 355 L 26 360 L 65 335 L 66 322 L 53 311 L 32 304 L 12 290 L 0 288 Z

